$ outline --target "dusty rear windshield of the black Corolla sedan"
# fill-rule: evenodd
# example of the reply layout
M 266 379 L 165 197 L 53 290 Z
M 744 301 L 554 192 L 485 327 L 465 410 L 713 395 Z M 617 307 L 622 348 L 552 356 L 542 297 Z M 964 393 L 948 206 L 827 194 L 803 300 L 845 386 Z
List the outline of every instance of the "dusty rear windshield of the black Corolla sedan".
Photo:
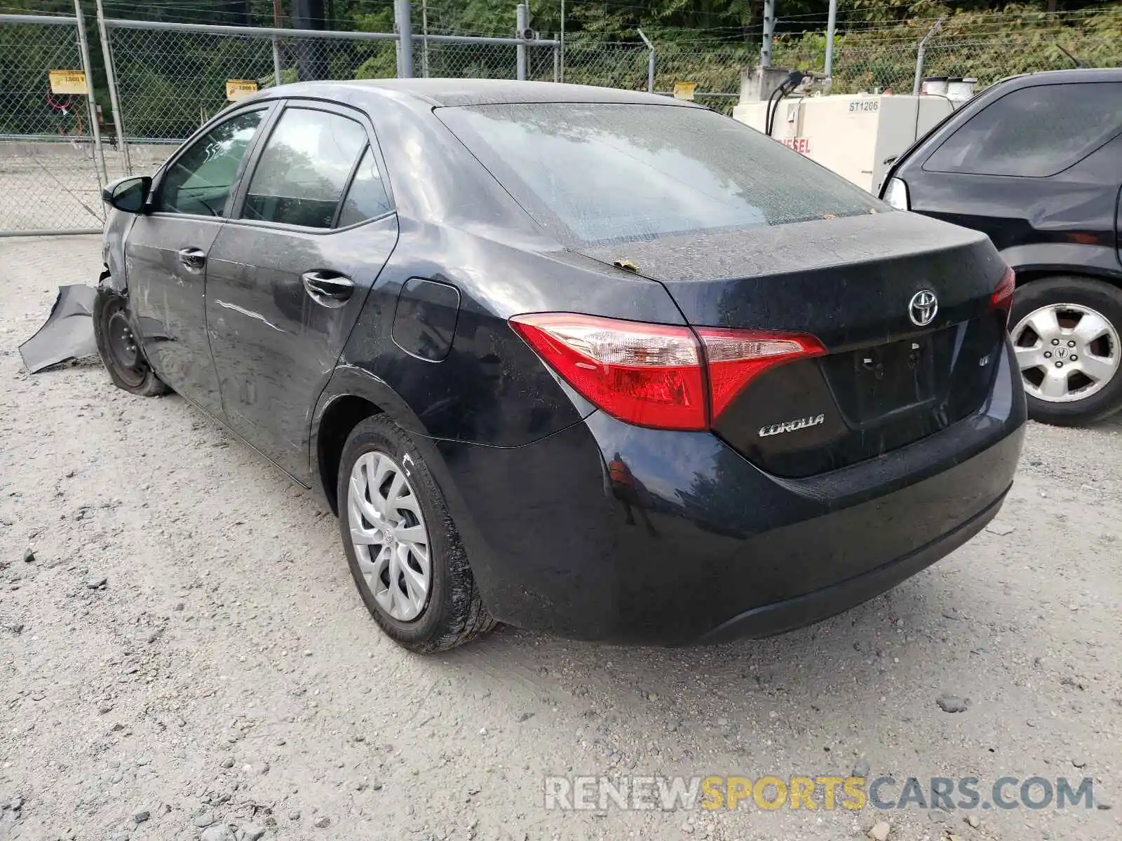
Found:
M 436 114 L 539 224 L 570 243 L 888 210 L 798 153 L 699 108 L 551 102 Z

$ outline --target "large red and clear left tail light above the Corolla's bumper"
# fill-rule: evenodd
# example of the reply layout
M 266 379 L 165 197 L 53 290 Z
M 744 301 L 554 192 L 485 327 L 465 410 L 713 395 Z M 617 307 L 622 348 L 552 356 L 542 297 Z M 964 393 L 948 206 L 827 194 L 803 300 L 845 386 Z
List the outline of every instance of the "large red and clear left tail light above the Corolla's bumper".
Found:
M 760 372 L 825 353 L 813 336 L 533 313 L 511 326 L 586 399 L 660 429 L 707 429 Z

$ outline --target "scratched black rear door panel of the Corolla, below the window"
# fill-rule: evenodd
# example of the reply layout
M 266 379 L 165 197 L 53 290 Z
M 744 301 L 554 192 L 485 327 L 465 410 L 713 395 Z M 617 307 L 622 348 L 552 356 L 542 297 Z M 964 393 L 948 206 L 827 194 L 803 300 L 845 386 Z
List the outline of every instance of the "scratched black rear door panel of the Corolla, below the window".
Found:
M 367 293 L 397 241 L 397 218 L 332 232 L 231 223 L 214 243 L 206 326 L 227 419 L 297 478 L 307 473 L 307 431 Z M 353 294 L 325 306 L 305 272 L 347 277 Z

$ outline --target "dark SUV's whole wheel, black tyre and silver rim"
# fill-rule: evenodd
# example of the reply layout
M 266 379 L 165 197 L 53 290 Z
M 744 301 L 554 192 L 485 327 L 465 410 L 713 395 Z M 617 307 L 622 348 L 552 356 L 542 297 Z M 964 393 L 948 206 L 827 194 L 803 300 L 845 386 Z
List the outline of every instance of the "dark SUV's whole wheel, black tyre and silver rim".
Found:
M 1029 416 L 1076 426 L 1122 408 L 1122 290 L 1051 277 L 1017 289 L 1010 338 Z

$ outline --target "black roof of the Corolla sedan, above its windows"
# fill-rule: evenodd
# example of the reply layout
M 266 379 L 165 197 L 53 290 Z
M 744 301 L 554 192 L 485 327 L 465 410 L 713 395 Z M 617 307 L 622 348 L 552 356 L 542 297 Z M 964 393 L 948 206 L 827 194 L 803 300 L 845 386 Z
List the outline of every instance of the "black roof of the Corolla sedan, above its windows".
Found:
M 297 82 L 268 87 L 263 98 L 406 95 L 431 105 L 487 105 L 506 102 L 604 102 L 700 108 L 672 96 L 617 87 L 557 82 L 515 82 L 506 78 L 370 78 L 346 82 Z

